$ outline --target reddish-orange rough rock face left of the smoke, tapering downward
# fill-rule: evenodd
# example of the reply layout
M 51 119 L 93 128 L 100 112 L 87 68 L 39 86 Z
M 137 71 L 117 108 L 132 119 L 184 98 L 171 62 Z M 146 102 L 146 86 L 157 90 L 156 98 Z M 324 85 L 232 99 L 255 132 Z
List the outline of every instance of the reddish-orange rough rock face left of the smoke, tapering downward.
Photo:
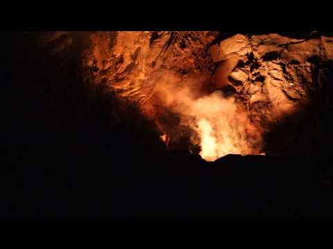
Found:
M 172 148 L 188 149 L 188 127 L 163 107 L 156 91 L 162 84 L 205 89 L 214 68 L 207 49 L 215 36 L 210 32 L 94 33 L 83 65 L 94 68 L 93 84 L 103 84 L 106 91 L 132 101 L 155 120 L 160 132 L 171 137 Z

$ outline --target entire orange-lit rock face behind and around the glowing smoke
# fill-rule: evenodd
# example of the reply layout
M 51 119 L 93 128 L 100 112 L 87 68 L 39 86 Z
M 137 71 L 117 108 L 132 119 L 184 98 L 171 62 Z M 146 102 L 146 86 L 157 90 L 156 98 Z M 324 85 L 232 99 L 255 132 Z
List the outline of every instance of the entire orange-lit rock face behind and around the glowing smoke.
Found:
M 327 114 L 332 104 L 333 38 L 320 33 L 297 38 L 275 33 L 221 35 L 93 32 L 87 35 L 80 61 L 91 84 L 135 102 L 162 130 L 172 133 L 171 140 L 186 129 L 155 99 L 160 84 L 186 85 L 201 94 L 223 91 L 248 113 L 268 151 L 319 151 L 320 145 L 310 149 L 308 142 L 324 139 L 321 113 Z M 48 44 L 46 49 L 62 53 L 73 46 L 71 36 L 49 33 L 41 41 Z M 171 124 L 163 121 L 173 118 Z

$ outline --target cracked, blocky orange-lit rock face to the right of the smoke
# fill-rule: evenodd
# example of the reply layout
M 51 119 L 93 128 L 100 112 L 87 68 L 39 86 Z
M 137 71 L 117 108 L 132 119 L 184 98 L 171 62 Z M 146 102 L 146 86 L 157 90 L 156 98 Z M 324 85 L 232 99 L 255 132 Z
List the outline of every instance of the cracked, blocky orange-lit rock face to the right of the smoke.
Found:
M 234 98 L 266 134 L 266 149 L 320 152 L 324 121 L 318 109 L 332 108 L 322 102 L 332 98 L 332 48 L 332 37 L 323 35 L 234 35 L 210 46 L 218 64 L 214 87 L 232 86 Z M 310 140 L 318 142 L 316 149 Z

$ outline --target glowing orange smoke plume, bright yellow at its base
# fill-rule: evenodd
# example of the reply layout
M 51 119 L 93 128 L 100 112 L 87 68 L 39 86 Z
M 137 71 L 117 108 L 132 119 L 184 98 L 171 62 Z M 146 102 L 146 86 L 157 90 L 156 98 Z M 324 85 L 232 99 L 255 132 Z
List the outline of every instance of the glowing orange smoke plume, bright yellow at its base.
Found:
M 246 112 L 237 108 L 234 98 L 225 98 L 219 91 L 203 95 L 191 85 L 158 84 L 155 95 L 193 129 L 191 141 L 200 145 L 200 156 L 216 160 L 227 154 L 259 154 L 261 133 Z

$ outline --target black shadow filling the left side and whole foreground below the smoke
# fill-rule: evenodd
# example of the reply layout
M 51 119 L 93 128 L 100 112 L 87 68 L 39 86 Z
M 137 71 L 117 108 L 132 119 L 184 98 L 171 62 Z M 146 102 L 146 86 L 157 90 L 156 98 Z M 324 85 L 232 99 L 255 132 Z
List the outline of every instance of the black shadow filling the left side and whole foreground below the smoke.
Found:
M 329 154 L 168 153 L 135 107 L 89 85 L 87 37 L 72 38 L 60 57 L 38 35 L 4 38 L 1 219 L 333 216 Z

